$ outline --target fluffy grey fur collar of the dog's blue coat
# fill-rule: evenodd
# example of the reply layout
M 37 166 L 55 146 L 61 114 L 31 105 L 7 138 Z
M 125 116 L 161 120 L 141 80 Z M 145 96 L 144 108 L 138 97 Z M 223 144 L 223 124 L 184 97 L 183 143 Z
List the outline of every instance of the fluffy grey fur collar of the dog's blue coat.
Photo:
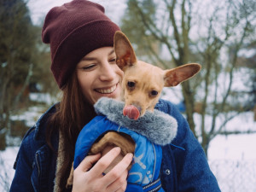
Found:
M 177 120 L 171 115 L 154 109 L 154 113 L 146 112 L 137 120 L 129 119 L 123 115 L 124 102 L 118 102 L 108 97 L 102 97 L 94 105 L 96 113 L 105 115 L 114 123 L 124 126 L 131 131 L 147 137 L 149 141 L 159 145 L 172 142 L 177 134 Z

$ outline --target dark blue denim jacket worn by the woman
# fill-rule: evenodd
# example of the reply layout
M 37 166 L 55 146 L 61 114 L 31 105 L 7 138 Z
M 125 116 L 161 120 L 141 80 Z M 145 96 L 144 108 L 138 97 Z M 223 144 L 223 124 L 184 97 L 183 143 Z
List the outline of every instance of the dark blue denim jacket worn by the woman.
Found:
M 160 180 L 162 188 L 174 191 L 220 191 L 200 143 L 195 139 L 183 115 L 171 102 L 160 100 L 156 109 L 177 119 L 177 137 L 172 145 L 162 147 Z M 15 160 L 15 177 L 10 192 L 53 191 L 55 185 L 56 156 L 45 141 L 45 127 L 55 107 L 42 115 L 23 138 Z M 58 148 L 58 136 L 54 147 Z M 178 146 L 178 147 L 175 147 Z M 185 150 L 181 149 L 184 148 Z

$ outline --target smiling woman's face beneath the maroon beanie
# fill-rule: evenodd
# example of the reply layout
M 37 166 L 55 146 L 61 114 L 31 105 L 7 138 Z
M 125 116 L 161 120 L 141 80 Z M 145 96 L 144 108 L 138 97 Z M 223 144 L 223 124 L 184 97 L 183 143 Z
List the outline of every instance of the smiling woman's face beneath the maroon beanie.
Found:
M 94 104 L 102 96 L 119 99 L 123 71 L 116 65 L 113 47 L 91 51 L 79 61 L 76 72 L 85 99 Z

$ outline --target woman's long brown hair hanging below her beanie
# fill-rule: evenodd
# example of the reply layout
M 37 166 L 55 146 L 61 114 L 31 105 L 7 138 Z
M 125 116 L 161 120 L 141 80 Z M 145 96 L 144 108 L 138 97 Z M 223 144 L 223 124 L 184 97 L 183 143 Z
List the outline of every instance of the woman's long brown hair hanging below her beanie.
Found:
M 61 191 L 65 191 L 67 177 L 72 166 L 75 143 L 79 132 L 90 119 L 96 116 L 91 104 L 84 100 L 81 92 L 76 72 L 68 79 L 67 84 L 62 89 L 63 96 L 59 105 L 56 106 L 56 112 L 49 119 L 49 125 L 46 130 L 46 141 L 49 148 L 54 149 L 51 139 L 59 131 L 64 139 L 64 162 L 60 169 Z

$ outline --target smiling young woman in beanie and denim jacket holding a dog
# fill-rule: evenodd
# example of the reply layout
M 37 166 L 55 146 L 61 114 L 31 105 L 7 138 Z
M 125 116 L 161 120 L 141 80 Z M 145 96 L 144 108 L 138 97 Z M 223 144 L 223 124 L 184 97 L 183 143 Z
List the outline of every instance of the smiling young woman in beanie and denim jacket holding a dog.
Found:
M 86 0 L 73 0 L 46 15 L 42 38 L 50 44 L 51 70 L 63 97 L 26 133 L 10 191 L 125 191 L 132 154 L 126 154 L 113 170 L 102 175 L 120 148 L 103 157 L 87 156 L 74 171 L 73 188 L 66 188 L 79 131 L 96 116 L 93 104 L 102 96 L 120 96 L 123 72 L 115 64 L 116 31 L 119 26 L 104 15 L 102 6 Z M 201 145 L 183 115 L 163 100 L 156 108 L 177 119 L 177 137 L 172 144 L 185 149 L 162 147 L 162 188 L 219 191 Z

